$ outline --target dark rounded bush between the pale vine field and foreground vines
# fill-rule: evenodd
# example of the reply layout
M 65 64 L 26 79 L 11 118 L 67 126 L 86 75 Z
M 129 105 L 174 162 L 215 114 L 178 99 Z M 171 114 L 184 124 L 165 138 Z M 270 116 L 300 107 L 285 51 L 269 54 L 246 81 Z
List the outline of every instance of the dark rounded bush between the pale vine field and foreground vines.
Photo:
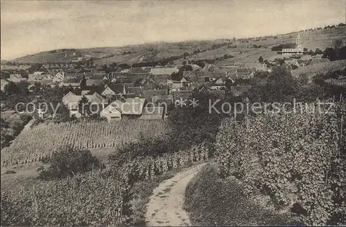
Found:
M 81 150 L 71 147 L 60 148 L 44 160 L 49 166 L 41 166 L 38 170 L 40 179 L 62 179 L 74 176 L 78 172 L 89 172 L 93 169 L 102 169 L 102 164 L 91 155 L 90 150 Z

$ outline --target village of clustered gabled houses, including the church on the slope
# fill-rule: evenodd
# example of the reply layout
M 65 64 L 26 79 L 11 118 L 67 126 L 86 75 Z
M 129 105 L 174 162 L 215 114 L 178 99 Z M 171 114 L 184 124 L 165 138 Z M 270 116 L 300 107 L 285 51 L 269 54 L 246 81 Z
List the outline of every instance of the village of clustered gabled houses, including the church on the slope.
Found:
M 184 57 L 181 64 L 170 62 L 165 66 L 154 67 L 131 67 L 124 64 L 113 70 L 107 69 L 108 72 L 79 58 L 76 60 L 79 62 L 78 66 L 84 62 L 86 72 L 75 72 L 74 62 L 42 64 L 40 69 L 44 71 L 35 71 L 25 76 L 23 72 L 25 74 L 26 71 L 21 69 L 21 74 L 10 74 L 9 78 L 1 79 L 1 91 L 4 92 L 10 82 L 25 81 L 29 92 L 33 92 L 34 87 L 64 89 L 62 103 L 69 108 L 71 115 L 78 118 L 82 116 L 78 103 L 82 97 L 86 97 L 84 102 L 99 105 L 99 115 L 107 121 L 122 118 L 163 119 L 167 117 L 170 108 L 190 105 L 192 92 L 212 94 L 219 99 L 232 95 L 237 97 L 252 87 L 257 75 L 268 75 L 275 66 L 291 71 L 300 66 L 329 61 L 327 58 L 321 59 L 322 55 L 309 56 L 304 53 L 299 34 L 295 38 L 294 48 L 282 48 L 279 53 L 283 56 L 282 59 L 268 61 L 259 56 L 258 61 L 252 64 L 237 61 L 228 65 L 203 61 L 198 61 L 197 64 Z M 309 57 L 301 59 L 303 55 Z M 342 79 L 340 81 L 343 82 Z M 121 112 L 111 108 L 115 104 L 119 110 L 122 106 L 127 106 L 129 110 L 133 110 L 131 106 L 134 105 L 140 107 L 139 111 Z M 40 118 L 47 117 L 43 110 L 37 111 Z

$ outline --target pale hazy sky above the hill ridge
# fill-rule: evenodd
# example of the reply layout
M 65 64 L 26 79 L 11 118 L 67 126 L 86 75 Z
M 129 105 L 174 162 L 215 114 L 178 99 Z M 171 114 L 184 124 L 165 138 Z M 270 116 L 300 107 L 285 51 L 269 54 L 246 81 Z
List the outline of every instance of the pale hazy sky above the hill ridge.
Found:
M 1 59 L 59 48 L 232 39 L 345 23 L 346 0 L 1 0 Z

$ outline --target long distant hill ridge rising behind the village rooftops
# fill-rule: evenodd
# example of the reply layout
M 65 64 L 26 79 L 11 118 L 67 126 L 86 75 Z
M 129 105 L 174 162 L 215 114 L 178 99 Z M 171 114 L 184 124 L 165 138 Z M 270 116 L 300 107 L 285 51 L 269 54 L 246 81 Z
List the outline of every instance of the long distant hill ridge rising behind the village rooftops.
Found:
M 61 49 L 40 52 L 34 55 L 19 57 L 13 61 L 19 63 L 46 63 L 46 62 L 71 62 L 78 57 L 93 57 L 94 63 L 140 63 L 158 61 L 161 59 L 189 54 L 189 59 L 216 59 L 224 55 L 233 58 L 220 59 L 218 63 L 232 61 L 253 62 L 262 56 L 264 59 L 280 57 L 271 47 L 282 43 L 292 43 L 298 32 L 289 34 L 255 37 L 247 41 L 232 41 L 231 39 L 217 39 L 212 41 L 182 41 L 176 43 L 156 42 L 123 47 L 102 47 L 87 49 Z M 325 50 L 334 47 L 336 40 L 346 42 L 346 26 L 327 28 L 322 30 L 305 30 L 299 32 L 302 37 L 302 46 L 308 50 Z M 254 48 L 254 45 L 260 48 Z M 235 47 L 236 46 L 236 47 Z M 211 48 L 211 50 L 210 50 Z M 194 52 L 198 53 L 194 54 Z M 204 51 L 203 51 L 204 50 Z M 179 61 L 179 60 L 176 60 Z

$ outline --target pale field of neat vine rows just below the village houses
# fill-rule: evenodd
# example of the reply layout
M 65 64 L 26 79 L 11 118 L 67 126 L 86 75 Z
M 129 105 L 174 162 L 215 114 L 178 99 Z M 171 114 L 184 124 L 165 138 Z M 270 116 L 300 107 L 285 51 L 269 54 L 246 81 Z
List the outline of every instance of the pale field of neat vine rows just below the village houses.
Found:
M 22 132 L 8 148 L 1 150 L 1 166 L 35 161 L 61 146 L 75 148 L 113 148 L 136 141 L 140 134 L 162 136 L 166 131 L 163 121 L 76 122 L 39 125 Z

